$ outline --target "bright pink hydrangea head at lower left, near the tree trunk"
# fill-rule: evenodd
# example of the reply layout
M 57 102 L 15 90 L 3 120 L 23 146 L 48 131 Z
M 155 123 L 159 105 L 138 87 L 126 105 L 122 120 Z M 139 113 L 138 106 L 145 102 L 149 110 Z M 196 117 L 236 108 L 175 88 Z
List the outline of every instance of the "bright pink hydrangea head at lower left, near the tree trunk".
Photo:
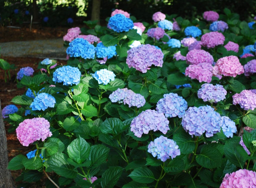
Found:
M 50 123 L 45 118 L 25 119 L 16 129 L 17 139 L 23 146 L 52 135 Z

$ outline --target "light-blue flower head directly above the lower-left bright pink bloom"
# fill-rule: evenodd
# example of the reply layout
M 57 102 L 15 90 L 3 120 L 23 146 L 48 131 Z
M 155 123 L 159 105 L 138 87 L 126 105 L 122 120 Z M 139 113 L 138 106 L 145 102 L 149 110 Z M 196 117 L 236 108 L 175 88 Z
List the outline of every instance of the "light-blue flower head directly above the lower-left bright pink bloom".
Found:
M 36 96 L 34 101 L 31 103 L 30 108 L 32 110 L 43 110 L 45 111 L 48 107 L 53 108 L 56 103 L 55 98 L 48 93 L 40 93 Z

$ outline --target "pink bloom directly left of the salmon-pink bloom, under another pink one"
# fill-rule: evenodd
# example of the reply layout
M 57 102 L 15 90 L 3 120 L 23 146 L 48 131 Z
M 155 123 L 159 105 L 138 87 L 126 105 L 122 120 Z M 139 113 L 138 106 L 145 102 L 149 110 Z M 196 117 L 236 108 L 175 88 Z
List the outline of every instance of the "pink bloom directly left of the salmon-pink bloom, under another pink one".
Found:
M 212 65 L 209 63 L 199 63 L 189 65 L 185 70 L 185 76 L 197 79 L 199 82 L 211 82 Z

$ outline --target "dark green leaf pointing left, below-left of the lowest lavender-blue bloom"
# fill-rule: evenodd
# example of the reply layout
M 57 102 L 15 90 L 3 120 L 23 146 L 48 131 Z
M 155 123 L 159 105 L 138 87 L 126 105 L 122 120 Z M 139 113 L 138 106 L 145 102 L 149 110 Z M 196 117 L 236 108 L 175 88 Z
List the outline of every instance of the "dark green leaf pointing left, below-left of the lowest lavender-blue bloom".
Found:
M 155 180 L 153 172 L 146 167 L 138 167 L 134 169 L 129 177 L 139 183 L 152 183 Z

